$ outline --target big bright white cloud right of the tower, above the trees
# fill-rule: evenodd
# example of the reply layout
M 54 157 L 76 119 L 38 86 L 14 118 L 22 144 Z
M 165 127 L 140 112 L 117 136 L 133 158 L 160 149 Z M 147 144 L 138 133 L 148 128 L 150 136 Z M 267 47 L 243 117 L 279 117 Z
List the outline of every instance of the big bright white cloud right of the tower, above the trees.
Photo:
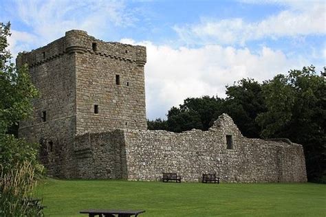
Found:
M 131 39 L 121 42 L 135 44 Z M 241 78 L 263 81 L 309 64 L 303 58 L 289 59 L 283 52 L 269 47 L 253 54 L 248 48 L 220 45 L 173 49 L 149 41 L 138 44 L 147 50 L 145 84 L 149 119 L 164 117 L 172 106 L 182 104 L 188 97 L 224 97 L 225 86 Z

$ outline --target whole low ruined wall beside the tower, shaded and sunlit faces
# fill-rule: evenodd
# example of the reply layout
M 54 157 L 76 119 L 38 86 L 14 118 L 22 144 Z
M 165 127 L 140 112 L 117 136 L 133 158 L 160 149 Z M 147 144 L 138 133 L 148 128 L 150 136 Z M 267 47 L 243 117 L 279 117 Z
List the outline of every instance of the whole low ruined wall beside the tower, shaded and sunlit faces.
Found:
M 177 172 L 191 182 L 202 173 L 225 182 L 307 181 L 301 145 L 243 137 L 225 114 L 208 131 L 114 130 L 80 135 L 75 147 L 89 150 L 78 161 L 79 178 L 160 181 L 162 172 Z

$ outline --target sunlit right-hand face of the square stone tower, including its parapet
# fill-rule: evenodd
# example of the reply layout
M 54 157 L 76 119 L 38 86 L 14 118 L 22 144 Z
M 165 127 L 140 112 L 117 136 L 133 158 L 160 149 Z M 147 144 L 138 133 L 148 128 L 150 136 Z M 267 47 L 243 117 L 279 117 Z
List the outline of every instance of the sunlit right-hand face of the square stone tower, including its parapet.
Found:
M 67 32 L 66 37 L 80 50 L 76 53 L 76 133 L 145 130 L 146 48 L 106 43 L 85 32 L 71 34 Z M 94 113 L 95 105 L 98 113 Z

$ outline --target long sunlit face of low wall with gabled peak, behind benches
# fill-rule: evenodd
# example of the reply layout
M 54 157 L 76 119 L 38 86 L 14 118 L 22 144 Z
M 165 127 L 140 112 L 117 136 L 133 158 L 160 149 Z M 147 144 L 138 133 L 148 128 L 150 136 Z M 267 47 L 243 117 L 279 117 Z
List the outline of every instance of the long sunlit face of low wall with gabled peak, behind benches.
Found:
M 199 181 L 202 173 L 226 182 L 307 181 L 301 145 L 243 137 L 228 115 L 208 131 L 126 130 L 125 143 L 129 180 L 159 181 L 162 172 L 177 172 L 184 181 Z

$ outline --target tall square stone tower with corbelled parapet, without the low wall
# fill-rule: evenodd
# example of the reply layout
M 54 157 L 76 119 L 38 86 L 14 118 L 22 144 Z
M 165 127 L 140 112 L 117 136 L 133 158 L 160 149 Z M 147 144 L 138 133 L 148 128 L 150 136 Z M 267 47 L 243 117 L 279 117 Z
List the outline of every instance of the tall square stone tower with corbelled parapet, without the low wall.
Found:
M 73 170 L 74 137 L 115 128 L 146 129 L 146 47 L 107 43 L 72 30 L 32 52 L 20 53 L 41 93 L 19 135 L 40 142 L 50 173 Z

